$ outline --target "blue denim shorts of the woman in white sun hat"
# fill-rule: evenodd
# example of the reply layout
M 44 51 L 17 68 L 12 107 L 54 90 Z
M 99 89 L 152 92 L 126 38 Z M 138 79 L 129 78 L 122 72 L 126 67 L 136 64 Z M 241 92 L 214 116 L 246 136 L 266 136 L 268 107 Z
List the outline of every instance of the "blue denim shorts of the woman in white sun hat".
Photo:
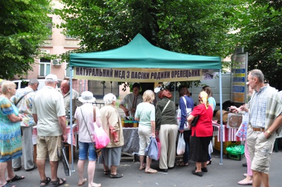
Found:
M 97 160 L 97 154 L 95 152 L 95 148 L 94 148 L 92 143 L 79 142 L 78 145 L 79 145 L 78 159 L 85 160 L 85 159 L 87 159 L 87 155 L 88 155 L 89 161 L 96 161 Z

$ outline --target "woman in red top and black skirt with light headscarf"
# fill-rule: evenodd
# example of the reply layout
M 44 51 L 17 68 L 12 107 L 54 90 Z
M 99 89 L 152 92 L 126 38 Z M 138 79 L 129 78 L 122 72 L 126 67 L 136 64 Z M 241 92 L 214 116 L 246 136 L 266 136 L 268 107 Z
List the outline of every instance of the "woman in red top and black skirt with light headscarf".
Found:
M 199 105 L 194 107 L 188 123 L 192 129 L 190 140 L 192 157 L 196 162 L 196 169 L 192 170 L 192 174 L 202 176 L 202 171 L 207 172 L 207 157 L 209 156 L 209 143 L 212 140 L 212 107 L 207 102 L 207 92 L 200 92 Z M 191 126 L 192 120 L 199 116 L 196 126 Z

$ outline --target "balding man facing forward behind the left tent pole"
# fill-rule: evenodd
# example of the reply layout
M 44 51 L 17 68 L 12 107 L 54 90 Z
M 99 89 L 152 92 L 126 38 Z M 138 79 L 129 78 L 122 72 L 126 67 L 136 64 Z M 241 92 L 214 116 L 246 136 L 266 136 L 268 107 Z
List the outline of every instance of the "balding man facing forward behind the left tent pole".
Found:
M 78 97 L 79 97 L 78 92 L 75 90 L 72 91 L 73 91 L 73 97 L 71 99 L 70 82 L 68 80 L 63 80 L 61 82 L 61 89 L 59 89 L 59 92 L 61 93 L 61 95 L 63 95 L 63 102 L 65 103 L 66 115 L 68 116 L 68 118 L 70 117 L 68 112 L 71 110 L 70 101 L 72 101 L 73 103 L 72 106 L 73 115 L 75 114 L 76 107 L 80 107 L 82 105 L 82 103 L 78 101 Z

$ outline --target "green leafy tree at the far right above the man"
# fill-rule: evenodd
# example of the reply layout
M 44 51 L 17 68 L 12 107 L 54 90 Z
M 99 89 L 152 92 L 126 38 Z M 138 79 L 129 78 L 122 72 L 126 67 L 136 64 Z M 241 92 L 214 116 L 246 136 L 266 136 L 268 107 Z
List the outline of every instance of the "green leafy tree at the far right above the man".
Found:
M 238 14 L 240 32 L 234 41 L 249 53 L 248 69 L 262 70 L 274 88 L 281 90 L 282 1 L 249 1 Z

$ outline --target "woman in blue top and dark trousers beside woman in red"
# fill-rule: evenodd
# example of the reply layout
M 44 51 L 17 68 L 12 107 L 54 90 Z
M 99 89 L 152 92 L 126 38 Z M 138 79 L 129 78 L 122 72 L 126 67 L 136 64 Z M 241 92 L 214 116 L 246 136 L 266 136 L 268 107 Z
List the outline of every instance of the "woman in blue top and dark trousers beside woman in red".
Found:
M 186 104 L 184 103 L 183 98 L 185 99 Z M 184 131 L 184 123 L 187 122 L 187 114 L 186 114 L 186 107 L 192 111 L 194 108 L 194 101 L 192 97 L 190 97 L 190 92 L 188 88 L 184 85 L 180 86 L 179 88 L 179 108 L 181 109 L 181 121 L 180 121 L 180 133 L 183 133 L 184 140 L 185 140 L 185 152 L 183 155 L 183 161 L 178 163 L 178 166 L 185 167 L 188 166 L 188 158 L 189 158 L 189 144 L 190 144 L 190 135 L 191 130 Z

